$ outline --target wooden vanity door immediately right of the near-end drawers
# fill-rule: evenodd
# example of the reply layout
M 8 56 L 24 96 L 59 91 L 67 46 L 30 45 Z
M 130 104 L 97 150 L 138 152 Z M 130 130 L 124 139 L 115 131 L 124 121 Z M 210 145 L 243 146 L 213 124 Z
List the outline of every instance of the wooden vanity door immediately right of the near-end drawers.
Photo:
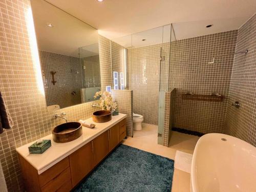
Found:
M 72 186 L 76 186 L 94 167 L 92 142 L 69 156 Z

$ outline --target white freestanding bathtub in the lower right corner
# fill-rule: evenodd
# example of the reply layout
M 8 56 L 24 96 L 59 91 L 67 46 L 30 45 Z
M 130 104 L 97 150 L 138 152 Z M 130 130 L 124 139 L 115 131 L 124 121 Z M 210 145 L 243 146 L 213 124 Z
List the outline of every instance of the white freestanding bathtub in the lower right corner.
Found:
M 255 192 L 256 147 L 229 135 L 202 136 L 193 154 L 191 191 Z

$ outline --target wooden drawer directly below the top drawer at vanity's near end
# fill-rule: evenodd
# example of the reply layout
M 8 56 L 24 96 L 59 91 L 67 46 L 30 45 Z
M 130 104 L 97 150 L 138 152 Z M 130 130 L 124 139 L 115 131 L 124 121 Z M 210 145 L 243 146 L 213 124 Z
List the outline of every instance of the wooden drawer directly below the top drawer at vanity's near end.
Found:
M 42 192 L 63 191 L 72 189 L 70 168 L 66 168 L 59 175 L 55 176 L 49 183 L 41 187 Z

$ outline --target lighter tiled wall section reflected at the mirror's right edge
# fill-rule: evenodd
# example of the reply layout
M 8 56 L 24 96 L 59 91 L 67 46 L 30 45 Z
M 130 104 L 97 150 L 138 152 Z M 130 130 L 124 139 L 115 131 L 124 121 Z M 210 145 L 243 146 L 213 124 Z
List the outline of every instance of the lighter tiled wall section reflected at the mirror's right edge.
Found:
M 84 70 L 85 88 L 100 87 L 100 64 L 99 55 L 81 58 Z

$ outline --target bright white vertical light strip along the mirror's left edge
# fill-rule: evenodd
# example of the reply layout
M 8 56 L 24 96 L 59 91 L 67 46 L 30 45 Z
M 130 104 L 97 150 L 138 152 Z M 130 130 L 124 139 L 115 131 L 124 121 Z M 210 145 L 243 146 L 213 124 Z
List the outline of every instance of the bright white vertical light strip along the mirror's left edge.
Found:
M 44 84 L 42 82 L 39 54 L 38 54 L 38 49 L 37 49 L 34 20 L 33 20 L 33 14 L 32 14 L 31 7 L 29 9 L 27 9 L 25 16 L 26 16 L 26 24 L 27 24 L 27 29 L 28 29 L 30 51 L 31 51 L 31 55 L 32 55 L 32 62 L 33 62 L 34 70 L 35 70 L 37 88 L 39 89 L 39 91 L 42 95 L 45 95 Z

